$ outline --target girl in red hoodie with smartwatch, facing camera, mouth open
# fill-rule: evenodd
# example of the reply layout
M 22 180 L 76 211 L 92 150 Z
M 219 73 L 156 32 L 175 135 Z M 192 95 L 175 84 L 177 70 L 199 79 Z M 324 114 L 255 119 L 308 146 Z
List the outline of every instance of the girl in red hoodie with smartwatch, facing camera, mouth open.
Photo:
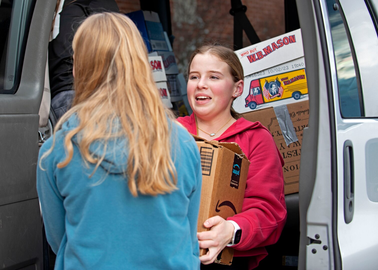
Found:
M 215 216 L 204 222 L 209 231 L 198 233 L 201 269 L 252 269 L 266 255 L 266 245 L 277 242 L 286 221 L 283 159 L 270 132 L 232 109 L 243 92 L 243 67 L 223 45 L 197 48 L 189 62 L 187 96 L 191 116 L 178 118 L 186 129 L 206 140 L 235 142 L 249 166 L 242 212 L 227 220 Z M 225 246 L 235 249 L 231 266 L 212 264 Z

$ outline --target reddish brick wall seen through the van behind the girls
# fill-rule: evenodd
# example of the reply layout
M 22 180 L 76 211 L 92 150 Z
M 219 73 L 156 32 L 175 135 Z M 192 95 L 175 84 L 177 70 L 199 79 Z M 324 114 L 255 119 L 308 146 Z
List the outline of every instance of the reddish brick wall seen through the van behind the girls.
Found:
M 246 15 L 260 40 L 285 33 L 284 0 L 242 0 Z M 140 9 L 139 1 L 116 0 L 123 13 Z M 232 45 L 234 18 L 229 0 L 170 0 L 174 53 L 180 72 L 185 72 L 192 52 L 206 41 Z M 251 45 L 243 33 L 243 47 Z

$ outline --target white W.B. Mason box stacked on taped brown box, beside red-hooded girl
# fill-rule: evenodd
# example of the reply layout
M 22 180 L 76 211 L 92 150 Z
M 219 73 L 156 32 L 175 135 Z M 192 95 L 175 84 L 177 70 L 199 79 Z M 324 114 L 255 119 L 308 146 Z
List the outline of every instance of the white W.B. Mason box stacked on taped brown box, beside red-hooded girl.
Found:
M 301 29 L 235 53 L 245 78 L 234 109 L 271 131 L 285 161 L 285 194 L 298 192 L 302 130 L 309 113 Z

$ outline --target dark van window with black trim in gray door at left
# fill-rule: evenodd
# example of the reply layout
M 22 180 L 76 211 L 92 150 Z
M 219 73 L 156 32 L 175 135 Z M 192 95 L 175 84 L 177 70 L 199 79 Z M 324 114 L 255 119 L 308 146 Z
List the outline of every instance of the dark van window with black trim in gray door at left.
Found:
M 0 1 L 0 94 L 17 91 L 34 3 Z

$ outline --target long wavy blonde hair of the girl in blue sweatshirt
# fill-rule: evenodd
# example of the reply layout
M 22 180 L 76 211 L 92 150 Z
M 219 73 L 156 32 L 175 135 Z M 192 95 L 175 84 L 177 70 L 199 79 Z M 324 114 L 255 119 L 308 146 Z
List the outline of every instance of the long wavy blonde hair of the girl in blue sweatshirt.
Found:
M 77 29 L 72 47 L 75 97 L 56 130 L 73 114 L 79 124 L 65 135 L 66 159 L 57 167 L 70 163 L 71 139 L 79 132 L 78 147 L 84 161 L 96 164 L 93 173 L 105 153 L 101 158 L 93 157 L 91 143 L 103 140 L 106 147 L 108 139 L 124 137 L 129 145 L 126 176 L 133 196 L 138 192 L 157 195 L 177 189 L 170 154 L 169 119 L 174 116 L 161 101 L 135 24 L 123 14 L 91 15 Z M 112 128 L 115 122 L 121 126 L 116 132 Z M 54 143 L 41 159 L 53 147 Z

